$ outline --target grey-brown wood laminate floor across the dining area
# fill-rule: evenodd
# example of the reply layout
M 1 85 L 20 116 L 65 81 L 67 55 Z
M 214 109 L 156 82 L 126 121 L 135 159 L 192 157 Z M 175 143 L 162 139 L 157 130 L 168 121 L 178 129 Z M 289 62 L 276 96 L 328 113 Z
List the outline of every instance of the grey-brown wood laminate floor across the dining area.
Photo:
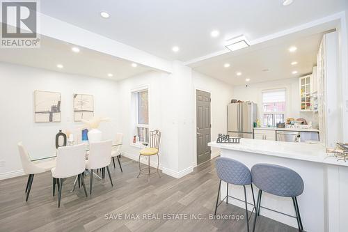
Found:
M 145 176 L 136 178 L 136 162 L 126 157 L 121 162 L 123 173 L 117 163 L 116 169 L 110 166 L 113 187 L 107 174 L 104 180 L 95 178 L 89 196 L 89 176 L 85 178 L 88 198 L 82 188 L 70 193 L 74 178 L 66 179 L 61 208 L 57 208 L 57 194 L 52 196 L 50 172 L 35 175 L 28 202 L 24 194 L 28 176 L 1 180 L 0 231 L 246 231 L 245 219 L 209 219 L 219 184 L 213 161 L 183 178 L 161 174 L 161 178 L 153 176 L 150 183 Z M 225 203 L 218 209 L 223 215 L 244 212 Z M 185 219 L 191 215 L 200 219 Z M 145 216 L 148 219 L 143 219 Z M 261 216 L 256 231 L 296 229 Z

